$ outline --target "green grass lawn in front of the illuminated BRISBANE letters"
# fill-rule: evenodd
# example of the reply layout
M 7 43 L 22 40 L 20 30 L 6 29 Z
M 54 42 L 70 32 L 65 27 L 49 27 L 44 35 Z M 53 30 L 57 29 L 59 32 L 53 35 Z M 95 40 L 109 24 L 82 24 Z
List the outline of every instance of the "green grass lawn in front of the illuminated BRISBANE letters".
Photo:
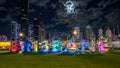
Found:
M 0 55 L 0 68 L 120 68 L 120 51 L 87 55 Z

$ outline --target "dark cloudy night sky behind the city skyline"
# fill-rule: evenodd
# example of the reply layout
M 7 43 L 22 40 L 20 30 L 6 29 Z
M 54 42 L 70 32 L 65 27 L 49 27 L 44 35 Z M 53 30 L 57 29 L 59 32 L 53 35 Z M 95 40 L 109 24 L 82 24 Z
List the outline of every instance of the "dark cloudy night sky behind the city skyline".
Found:
M 47 32 L 66 32 L 74 26 L 84 31 L 86 25 L 93 29 L 120 25 L 120 0 L 74 0 L 78 12 L 73 15 L 65 15 L 65 1 L 29 0 L 29 23 L 38 17 Z M 10 23 L 20 14 L 19 4 L 20 0 L 0 0 L 0 34 L 10 34 Z

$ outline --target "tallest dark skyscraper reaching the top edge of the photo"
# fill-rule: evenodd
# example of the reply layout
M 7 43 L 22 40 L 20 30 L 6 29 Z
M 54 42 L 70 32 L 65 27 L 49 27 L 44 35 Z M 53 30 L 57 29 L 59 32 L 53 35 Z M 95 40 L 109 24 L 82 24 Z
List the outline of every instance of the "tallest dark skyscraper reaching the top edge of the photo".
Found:
M 28 36 L 28 0 L 20 0 L 20 15 L 18 22 L 20 23 L 20 32 L 24 33 L 24 38 Z

